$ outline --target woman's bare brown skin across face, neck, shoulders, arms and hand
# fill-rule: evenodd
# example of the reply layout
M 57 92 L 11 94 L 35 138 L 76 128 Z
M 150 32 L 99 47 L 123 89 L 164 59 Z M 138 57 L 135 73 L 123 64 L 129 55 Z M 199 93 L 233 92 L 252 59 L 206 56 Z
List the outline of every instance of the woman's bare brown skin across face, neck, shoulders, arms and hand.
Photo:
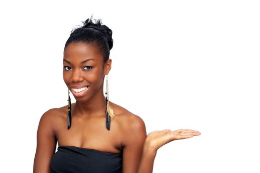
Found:
M 144 121 L 111 102 L 115 117 L 105 128 L 104 76 L 111 59 L 103 62 L 98 49 L 87 43 L 70 43 L 64 49 L 63 80 L 71 86 L 89 86 L 85 95 L 71 104 L 71 128 L 67 130 L 67 105 L 46 111 L 37 130 L 34 173 L 50 173 L 50 162 L 58 146 L 77 146 L 111 153 L 123 152 L 123 173 L 152 173 L 158 148 L 164 144 L 199 135 L 194 130 L 157 130 L 146 133 Z M 88 60 L 81 64 L 82 61 Z M 70 63 L 69 63 L 70 62 Z

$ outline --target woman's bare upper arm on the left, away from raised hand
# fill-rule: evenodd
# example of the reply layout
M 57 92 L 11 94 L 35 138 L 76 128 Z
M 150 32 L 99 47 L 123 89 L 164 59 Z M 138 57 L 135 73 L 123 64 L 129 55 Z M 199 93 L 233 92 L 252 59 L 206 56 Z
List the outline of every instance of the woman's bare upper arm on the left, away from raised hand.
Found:
M 37 130 L 37 147 L 34 158 L 34 173 L 50 173 L 50 162 L 56 149 L 56 138 L 53 131 L 54 109 L 45 112 Z

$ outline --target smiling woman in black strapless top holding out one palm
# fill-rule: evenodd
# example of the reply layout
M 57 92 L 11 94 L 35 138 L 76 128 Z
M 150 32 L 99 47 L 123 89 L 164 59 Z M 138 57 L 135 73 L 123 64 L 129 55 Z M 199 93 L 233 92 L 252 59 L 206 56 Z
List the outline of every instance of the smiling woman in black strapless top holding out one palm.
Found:
M 152 173 L 158 148 L 200 135 L 195 130 L 147 135 L 139 116 L 109 101 L 112 31 L 101 20 L 95 21 L 92 16 L 87 19 L 65 44 L 63 79 L 76 102 L 71 104 L 68 95 L 68 105 L 50 109 L 41 117 L 34 173 Z

